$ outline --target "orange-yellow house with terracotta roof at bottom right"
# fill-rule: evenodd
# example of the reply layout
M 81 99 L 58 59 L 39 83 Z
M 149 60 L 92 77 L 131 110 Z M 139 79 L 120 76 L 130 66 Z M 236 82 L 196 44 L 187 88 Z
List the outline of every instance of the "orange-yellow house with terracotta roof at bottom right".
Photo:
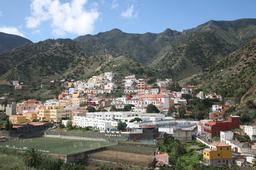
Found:
M 233 165 L 231 145 L 217 142 L 211 143 L 210 148 L 204 149 L 204 159 L 200 161 L 204 165 Z

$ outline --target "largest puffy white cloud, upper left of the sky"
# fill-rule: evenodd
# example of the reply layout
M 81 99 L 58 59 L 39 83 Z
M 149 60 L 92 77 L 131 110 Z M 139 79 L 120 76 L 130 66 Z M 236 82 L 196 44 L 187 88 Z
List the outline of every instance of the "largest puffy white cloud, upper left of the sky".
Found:
M 84 5 L 87 0 L 73 0 L 61 4 L 59 0 L 33 0 L 30 5 L 31 16 L 26 17 L 27 28 L 37 28 L 43 22 L 50 21 L 54 36 L 64 36 L 66 33 L 84 35 L 93 33 L 94 23 L 99 17 L 98 4 L 92 3 L 87 10 Z

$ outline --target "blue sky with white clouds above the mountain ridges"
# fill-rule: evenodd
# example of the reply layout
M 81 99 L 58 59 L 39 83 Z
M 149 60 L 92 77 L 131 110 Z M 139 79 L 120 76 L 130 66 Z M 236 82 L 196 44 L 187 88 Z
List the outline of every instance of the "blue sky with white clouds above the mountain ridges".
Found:
M 118 28 L 160 33 L 209 20 L 256 18 L 255 0 L 0 0 L 0 32 L 35 42 Z

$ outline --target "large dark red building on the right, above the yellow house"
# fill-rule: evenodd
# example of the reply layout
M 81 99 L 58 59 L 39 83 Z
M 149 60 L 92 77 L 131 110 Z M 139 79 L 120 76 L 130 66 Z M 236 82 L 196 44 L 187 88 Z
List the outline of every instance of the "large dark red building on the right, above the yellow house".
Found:
M 204 125 L 204 133 L 207 138 L 218 137 L 221 131 L 229 131 L 232 128 L 239 128 L 239 116 L 228 117 L 228 121 L 209 121 Z

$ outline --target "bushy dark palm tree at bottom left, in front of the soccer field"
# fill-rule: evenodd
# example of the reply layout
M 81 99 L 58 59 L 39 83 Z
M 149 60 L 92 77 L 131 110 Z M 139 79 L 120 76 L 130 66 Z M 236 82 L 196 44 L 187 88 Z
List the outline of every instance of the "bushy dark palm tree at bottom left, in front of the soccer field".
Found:
M 39 151 L 35 150 L 33 147 L 27 150 L 25 155 L 26 155 L 25 163 L 29 167 L 36 168 L 40 166 L 41 163 L 43 162 L 42 154 Z

